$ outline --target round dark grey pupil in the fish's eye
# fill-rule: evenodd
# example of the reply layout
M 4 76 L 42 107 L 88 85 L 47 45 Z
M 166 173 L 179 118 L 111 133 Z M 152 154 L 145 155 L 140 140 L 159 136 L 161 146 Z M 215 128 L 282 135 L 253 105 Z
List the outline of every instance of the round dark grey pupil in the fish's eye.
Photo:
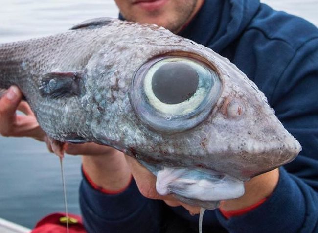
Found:
M 152 90 L 163 103 L 178 104 L 189 99 L 199 85 L 199 75 L 182 61 L 163 64 L 153 75 Z

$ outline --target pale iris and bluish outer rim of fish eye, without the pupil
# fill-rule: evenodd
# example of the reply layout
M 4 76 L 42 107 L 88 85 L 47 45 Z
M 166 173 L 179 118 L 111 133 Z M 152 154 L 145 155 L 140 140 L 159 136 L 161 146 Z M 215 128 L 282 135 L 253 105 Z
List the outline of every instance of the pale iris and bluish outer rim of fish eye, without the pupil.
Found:
M 152 94 L 154 95 L 152 88 L 149 88 L 152 87 L 152 77 L 155 73 L 155 69 L 158 69 L 160 64 L 174 61 L 188 63 L 191 65 L 192 69 L 196 70 L 199 77 L 197 92 L 185 102 L 189 104 L 191 101 L 190 99 L 194 98 L 197 99 L 197 101 L 194 101 L 193 105 L 197 106 L 197 104 L 201 101 L 199 106 L 195 107 L 192 104 L 192 106 L 190 106 L 190 104 L 182 106 L 182 103 L 170 105 L 162 103 L 156 97 L 149 97 Z M 159 66 L 156 66 L 156 64 L 159 64 Z M 145 86 L 147 86 L 148 89 L 145 88 Z M 150 61 L 142 64 L 138 70 L 136 70 L 129 95 L 130 103 L 134 109 L 134 112 L 140 119 L 141 124 L 144 124 L 150 129 L 163 134 L 174 134 L 189 130 L 203 122 L 204 119 L 209 116 L 211 110 L 215 107 L 221 92 L 221 79 L 218 73 L 212 69 L 211 66 L 204 64 L 201 62 L 201 60 L 190 58 L 188 56 L 161 56 L 153 58 Z M 161 106 L 164 107 L 162 108 Z M 169 109 L 167 106 L 173 107 Z M 190 109 L 192 109 L 192 111 Z M 168 112 L 168 114 L 162 112 L 167 112 L 170 110 L 171 112 Z M 184 114 L 184 112 L 188 113 Z

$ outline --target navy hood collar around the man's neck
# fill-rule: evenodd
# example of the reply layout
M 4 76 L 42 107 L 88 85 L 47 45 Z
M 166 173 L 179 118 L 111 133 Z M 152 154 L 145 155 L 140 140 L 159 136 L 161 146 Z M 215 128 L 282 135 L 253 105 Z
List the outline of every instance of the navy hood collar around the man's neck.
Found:
M 259 0 L 204 0 L 178 35 L 221 53 L 248 26 L 259 6 Z M 121 14 L 119 19 L 125 20 Z

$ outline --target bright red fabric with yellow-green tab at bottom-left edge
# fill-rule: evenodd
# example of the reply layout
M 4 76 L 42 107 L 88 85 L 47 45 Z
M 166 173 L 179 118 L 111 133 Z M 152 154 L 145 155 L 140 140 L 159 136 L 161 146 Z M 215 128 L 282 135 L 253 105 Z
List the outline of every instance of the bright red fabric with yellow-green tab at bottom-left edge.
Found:
M 52 213 L 42 218 L 31 231 L 31 233 L 66 233 L 66 223 L 60 221 L 65 217 L 65 213 Z M 68 217 L 77 220 L 77 223 L 69 223 L 69 233 L 87 233 L 80 216 L 68 214 Z

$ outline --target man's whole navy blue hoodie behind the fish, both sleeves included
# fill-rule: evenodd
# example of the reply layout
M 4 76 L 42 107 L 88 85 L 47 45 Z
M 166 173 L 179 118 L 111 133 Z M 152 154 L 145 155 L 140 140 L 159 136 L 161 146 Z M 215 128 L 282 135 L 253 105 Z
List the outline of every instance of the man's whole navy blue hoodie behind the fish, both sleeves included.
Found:
M 318 30 L 259 0 L 205 0 L 180 36 L 227 57 L 265 93 L 302 151 L 280 168 L 273 194 L 258 208 L 226 219 L 207 210 L 204 233 L 318 232 Z M 143 197 L 134 181 L 107 195 L 84 178 L 80 205 L 90 233 L 197 232 L 198 216 Z

